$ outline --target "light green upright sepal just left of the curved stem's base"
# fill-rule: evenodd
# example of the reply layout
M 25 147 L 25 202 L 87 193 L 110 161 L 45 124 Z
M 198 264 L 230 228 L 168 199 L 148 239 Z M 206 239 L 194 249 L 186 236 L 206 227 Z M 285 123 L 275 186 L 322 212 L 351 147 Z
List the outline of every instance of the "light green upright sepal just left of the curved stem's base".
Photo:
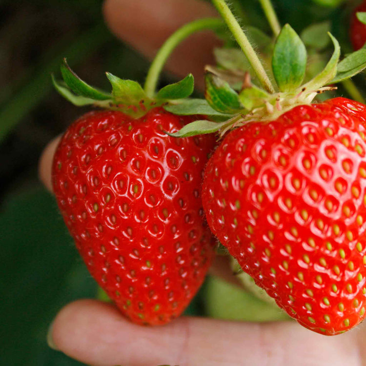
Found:
M 124 104 L 137 105 L 146 100 L 145 92 L 141 85 L 132 80 L 122 80 L 111 73 L 106 73 L 109 82 L 112 84 L 112 95 L 119 102 Z

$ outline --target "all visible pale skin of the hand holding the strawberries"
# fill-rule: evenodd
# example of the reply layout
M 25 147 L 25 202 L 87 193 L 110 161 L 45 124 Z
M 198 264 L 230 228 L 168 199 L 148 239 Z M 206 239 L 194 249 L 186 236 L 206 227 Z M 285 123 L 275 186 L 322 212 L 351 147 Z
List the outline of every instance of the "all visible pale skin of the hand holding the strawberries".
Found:
M 215 10 L 200 0 L 107 0 L 103 13 L 123 41 L 152 58 L 162 42 L 184 23 Z M 178 47 L 167 70 L 194 74 L 202 86 L 202 70 L 217 44 L 210 33 L 191 37 Z M 40 177 L 52 191 L 51 162 L 58 139 L 45 148 Z M 212 272 L 232 280 L 227 261 L 218 258 Z M 65 306 L 49 334 L 54 348 L 95 366 L 238 366 L 238 365 L 366 365 L 366 329 L 334 337 L 306 330 L 296 322 L 244 323 L 181 317 L 168 325 L 147 327 L 126 320 L 115 306 L 80 300 Z

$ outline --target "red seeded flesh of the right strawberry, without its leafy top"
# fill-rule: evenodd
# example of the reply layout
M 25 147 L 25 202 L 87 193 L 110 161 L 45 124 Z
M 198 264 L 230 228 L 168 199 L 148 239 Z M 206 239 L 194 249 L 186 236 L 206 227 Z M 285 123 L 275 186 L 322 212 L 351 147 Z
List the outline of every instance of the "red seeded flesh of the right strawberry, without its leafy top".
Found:
M 366 106 L 296 106 L 231 131 L 209 160 L 213 233 L 300 324 L 334 335 L 366 304 Z

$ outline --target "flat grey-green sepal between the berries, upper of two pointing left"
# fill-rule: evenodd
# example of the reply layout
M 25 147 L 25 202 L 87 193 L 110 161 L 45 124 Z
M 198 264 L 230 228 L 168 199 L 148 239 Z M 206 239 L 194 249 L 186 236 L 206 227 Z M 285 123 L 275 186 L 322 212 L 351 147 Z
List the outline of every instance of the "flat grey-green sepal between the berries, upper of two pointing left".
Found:
M 186 99 L 177 104 L 164 105 L 163 108 L 178 116 L 189 116 L 202 114 L 205 116 L 217 116 L 227 118 L 227 114 L 220 113 L 213 109 L 204 99 Z

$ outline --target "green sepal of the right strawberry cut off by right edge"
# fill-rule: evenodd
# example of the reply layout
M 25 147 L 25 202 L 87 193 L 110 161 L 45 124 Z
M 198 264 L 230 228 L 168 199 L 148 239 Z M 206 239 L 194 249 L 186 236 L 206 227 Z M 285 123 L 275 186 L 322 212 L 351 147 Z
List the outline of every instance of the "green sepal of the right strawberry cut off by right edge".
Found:
M 366 68 L 366 49 L 361 48 L 358 51 L 352 52 L 344 60 L 337 65 L 337 75 L 329 84 L 344 81 L 358 74 Z

